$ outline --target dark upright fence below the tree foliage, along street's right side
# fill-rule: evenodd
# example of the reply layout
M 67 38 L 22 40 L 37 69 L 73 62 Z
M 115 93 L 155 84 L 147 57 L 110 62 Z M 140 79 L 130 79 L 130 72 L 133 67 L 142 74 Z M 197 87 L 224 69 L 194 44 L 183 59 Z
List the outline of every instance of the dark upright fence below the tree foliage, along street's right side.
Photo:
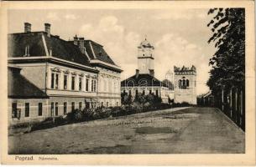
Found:
M 245 131 L 245 89 L 244 87 L 223 88 L 217 95 L 209 94 L 198 99 L 198 104 L 217 107 L 222 113 Z

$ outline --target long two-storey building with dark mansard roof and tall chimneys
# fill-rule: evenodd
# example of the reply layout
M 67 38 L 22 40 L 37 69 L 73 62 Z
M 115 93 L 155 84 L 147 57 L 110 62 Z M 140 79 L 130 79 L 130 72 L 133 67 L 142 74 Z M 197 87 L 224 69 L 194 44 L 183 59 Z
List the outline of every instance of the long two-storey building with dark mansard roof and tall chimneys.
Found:
M 24 23 L 24 33 L 8 34 L 8 67 L 9 124 L 121 104 L 122 70 L 102 45 L 65 41 L 49 23 L 39 32 Z

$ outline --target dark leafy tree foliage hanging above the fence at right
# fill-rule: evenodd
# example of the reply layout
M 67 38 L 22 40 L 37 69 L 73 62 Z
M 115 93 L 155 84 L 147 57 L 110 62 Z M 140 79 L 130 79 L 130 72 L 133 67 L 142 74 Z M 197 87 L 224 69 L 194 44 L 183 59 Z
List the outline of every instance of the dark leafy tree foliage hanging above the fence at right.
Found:
M 213 94 L 223 86 L 243 86 L 245 82 L 245 10 L 244 8 L 212 8 L 214 15 L 207 27 L 212 30 L 208 43 L 215 43 L 217 52 L 207 85 Z

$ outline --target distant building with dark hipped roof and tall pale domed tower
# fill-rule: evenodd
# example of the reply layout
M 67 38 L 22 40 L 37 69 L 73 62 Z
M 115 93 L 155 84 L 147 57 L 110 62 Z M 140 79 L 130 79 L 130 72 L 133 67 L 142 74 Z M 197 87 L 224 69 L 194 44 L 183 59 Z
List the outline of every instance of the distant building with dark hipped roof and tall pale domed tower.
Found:
M 138 46 L 138 69 L 136 73 L 121 82 L 123 93 L 134 98 L 138 93 L 159 96 L 163 103 L 169 102 L 173 91 L 159 79 L 154 78 L 154 46 L 145 40 Z

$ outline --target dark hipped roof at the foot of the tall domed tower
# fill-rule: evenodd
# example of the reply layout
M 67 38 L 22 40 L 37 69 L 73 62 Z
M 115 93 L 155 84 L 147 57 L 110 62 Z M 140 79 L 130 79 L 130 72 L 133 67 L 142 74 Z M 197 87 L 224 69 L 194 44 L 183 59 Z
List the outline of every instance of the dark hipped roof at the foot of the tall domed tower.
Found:
M 121 87 L 125 86 L 164 86 L 165 83 L 159 81 L 159 79 L 154 78 L 148 73 L 139 73 L 138 76 L 133 75 L 130 78 L 127 78 L 121 82 Z

